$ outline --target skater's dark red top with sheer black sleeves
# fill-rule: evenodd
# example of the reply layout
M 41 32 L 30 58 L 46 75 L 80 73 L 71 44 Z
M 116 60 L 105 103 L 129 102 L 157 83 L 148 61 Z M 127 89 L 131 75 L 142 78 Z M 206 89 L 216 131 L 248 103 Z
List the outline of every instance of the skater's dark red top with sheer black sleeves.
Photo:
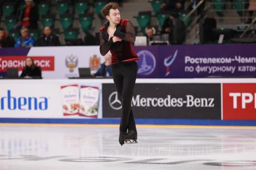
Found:
M 123 41 L 113 42 L 112 38 L 108 41 L 107 32 L 109 22 L 100 29 L 100 54 L 105 56 L 110 50 L 112 64 L 139 60 L 139 57 L 132 48 L 132 42 L 135 41 L 135 30 L 129 20 L 120 20 L 114 36 L 120 37 Z

